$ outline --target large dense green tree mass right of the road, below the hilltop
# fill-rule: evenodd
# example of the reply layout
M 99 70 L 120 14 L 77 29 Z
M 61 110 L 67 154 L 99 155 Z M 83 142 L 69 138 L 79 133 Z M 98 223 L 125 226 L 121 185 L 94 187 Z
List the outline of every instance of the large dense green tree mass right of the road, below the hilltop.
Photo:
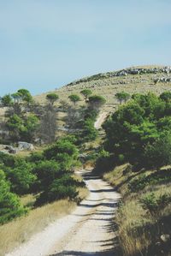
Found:
M 105 124 L 105 149 L 125 161 L 144 167 L 171 164 L 171 104 L 156 97 L 135 94 Z

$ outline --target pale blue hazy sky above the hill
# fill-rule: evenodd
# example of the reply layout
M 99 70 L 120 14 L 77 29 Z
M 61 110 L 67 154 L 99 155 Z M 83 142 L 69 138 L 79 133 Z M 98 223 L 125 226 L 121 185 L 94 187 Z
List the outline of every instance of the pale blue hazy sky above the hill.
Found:
M 0 0 L 0 96 L 171 65 L 170 0 Z

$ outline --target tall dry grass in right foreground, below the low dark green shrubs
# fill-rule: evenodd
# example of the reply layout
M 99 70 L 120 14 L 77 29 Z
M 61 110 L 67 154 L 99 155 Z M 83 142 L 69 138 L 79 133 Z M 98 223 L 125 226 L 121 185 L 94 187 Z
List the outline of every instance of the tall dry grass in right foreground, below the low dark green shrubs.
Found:
M 148 215 L 139 203 L 139 199 L 151 191 L 156 196 L 164 193 L 171 194 L 170 184 L 149 187 L 142 193 L 128 195 L 116 215 L 124 255 L 144 255 L 159 232 L 156 219 Z M 162 217 L 166 216 L 171 216 L 171 205 L 162 210 Z M 159 229 L 162 234 L 168 234 L 168 223 L 163 221 Z

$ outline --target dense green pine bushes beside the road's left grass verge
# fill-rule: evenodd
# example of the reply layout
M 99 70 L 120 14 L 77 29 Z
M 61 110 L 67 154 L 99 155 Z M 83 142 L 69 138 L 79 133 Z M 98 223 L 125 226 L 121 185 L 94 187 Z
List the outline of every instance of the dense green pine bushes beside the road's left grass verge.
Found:
M 72 170 L 79 164 L 75 141 L 74 136 L 62 137 L 43 153 L 27 158 L 0 154 L 0 223 L 26 212 L 16 194 L 38 193 L 35 205 L 77 197 L 77 188 L 84 184 L 73 178 Z

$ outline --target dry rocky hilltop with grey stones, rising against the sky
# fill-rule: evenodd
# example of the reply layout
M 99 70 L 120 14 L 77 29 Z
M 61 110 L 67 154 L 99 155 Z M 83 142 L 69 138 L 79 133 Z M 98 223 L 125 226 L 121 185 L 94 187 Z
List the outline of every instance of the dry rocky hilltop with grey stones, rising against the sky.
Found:
M 171 67 L 139 66 L 94 74 L 75 80 L 54 92 L 62 100 L 67 100 L 68 95 L 79 94 L 85 88 L 90 88 L 97 95 L 103 95 L 107 100 L 104 108 L 110 111 L 115 109 L 115 105 L 118 104 L 115 98 L 117 92 L 124 91 L 130 94 L 155 92 L 158 95 L 164 91 L 171 91 Z M 35 98 L 38 102 L 44 103 L 46 94 L 38 95 Z

